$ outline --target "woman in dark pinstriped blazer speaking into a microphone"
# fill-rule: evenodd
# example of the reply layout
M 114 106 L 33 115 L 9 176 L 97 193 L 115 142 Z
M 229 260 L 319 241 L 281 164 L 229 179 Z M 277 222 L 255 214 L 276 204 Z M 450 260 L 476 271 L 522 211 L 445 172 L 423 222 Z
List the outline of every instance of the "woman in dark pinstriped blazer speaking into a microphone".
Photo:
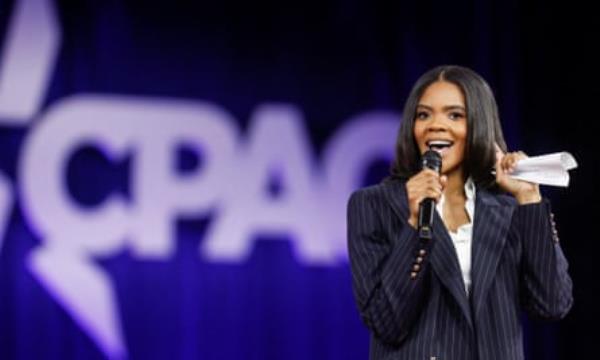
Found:
M 421 169 L 437 151 L 441 174 Z M 414 85 L 391 175 L 348 203 L 353 289 L 371 331 L 371 359 L 523 359 L 521 310 L 559 319 L 571 279 L 539 186 L 510 177 L 487 83 L 441 66 Z M 424 198 L 436 200 L 433 239 L 419 239 Z

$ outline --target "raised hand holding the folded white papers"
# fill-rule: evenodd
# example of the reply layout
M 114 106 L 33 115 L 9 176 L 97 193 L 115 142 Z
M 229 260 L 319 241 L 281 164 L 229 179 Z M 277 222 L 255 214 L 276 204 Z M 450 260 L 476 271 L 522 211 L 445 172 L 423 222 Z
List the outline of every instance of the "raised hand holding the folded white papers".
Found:
M 542 200 L 538 184 L 510 177 L 517 162 L 526 158 L 527 155 L 522 151 L 505 154 L 496 146 L 496 183 L 502 190 L 511 193 L 521 205 Z

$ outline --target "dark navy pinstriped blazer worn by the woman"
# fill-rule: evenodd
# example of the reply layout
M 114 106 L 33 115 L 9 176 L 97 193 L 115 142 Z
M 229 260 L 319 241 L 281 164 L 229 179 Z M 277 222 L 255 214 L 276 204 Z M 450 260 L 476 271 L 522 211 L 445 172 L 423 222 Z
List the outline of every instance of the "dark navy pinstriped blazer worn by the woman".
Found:
M 348 203 L 353 290 L 371 359 L 523 359 L 521 310 L 545 319 L 569 311 L 572 284 L 547 200 L 518 205 L 477 189 L 470 296 L 439 214 L 429 243 L 408 218 L 399 180 L 357 190 Z

